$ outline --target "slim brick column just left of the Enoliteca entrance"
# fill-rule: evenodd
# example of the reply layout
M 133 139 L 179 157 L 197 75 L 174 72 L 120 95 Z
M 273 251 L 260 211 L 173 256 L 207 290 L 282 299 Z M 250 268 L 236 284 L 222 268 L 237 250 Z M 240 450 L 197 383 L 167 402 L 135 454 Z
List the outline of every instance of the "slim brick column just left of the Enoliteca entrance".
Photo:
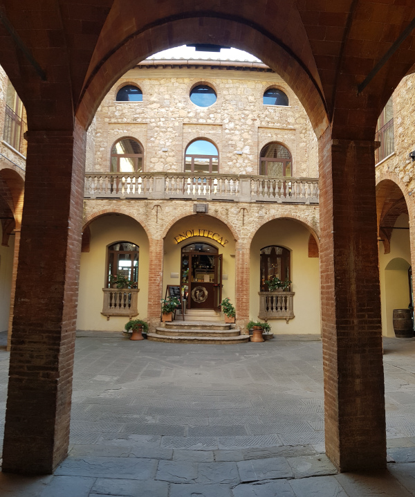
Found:
M 161 302 L 164 298 L 163 289 L 163 254 L 164 240 L 151 238 L 149 240 L 149 303 L 148 321 L 150 331 L 160 325 Z

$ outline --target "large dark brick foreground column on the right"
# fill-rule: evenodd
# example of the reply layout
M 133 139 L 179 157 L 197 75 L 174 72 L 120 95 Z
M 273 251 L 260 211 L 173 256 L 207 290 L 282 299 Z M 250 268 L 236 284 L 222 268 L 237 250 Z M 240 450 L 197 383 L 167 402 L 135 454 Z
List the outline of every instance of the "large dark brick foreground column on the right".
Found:
M 385 469 L 385 387 L 374 142 L 320 138 L 326 453 L 340 471 Z

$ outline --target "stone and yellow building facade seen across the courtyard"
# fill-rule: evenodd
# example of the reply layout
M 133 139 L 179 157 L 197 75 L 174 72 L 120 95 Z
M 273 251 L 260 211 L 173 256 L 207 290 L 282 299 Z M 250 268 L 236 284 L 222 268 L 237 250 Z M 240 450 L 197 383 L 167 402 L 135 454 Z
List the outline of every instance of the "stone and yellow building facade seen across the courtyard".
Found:
M 142 100 L 117 101 L 126 85 L 140 89 Z M 201 85 L 216 93 L 208 107 L 190 99 Z M 269 89 L 283 91 L 288 105 L 264 105 Z M 114 144 L 125 138 L 142 148 L 140 172 L 110 172 Z M 197 141 L 216 147 L 216 171 L 185 171 L 187 146 Z M 286 177 L 260 174 L 261 151 L 272 143 L 291 154 Z M 223 254 L 222 298 L 235 305 L 242 333 L 261 314 L 260 252 L 271 246 L 289 251 L 295 293 L 295 317 L 287 319 L 282 311 L 266 317 L 272 332 L 320 333 L 318 254 L 309 251 L 319 245 L 317 140 L 279 75 L 252 62 L 143 61 L 102 101 L 86 150 L 78 329 L 122 329 L 125 316 L 102 309 L 102 292 L 109 286 L 108 247 L 124 240 L 139 246 L 137 312 L 152 329 L 160 325 L 167 285 L 185 286 L 183 247 L 207 242 Z M 204 212 L 197 213 L 200 209 Z M 177 242 L 178 235 L 195 229 L 218 235 Z

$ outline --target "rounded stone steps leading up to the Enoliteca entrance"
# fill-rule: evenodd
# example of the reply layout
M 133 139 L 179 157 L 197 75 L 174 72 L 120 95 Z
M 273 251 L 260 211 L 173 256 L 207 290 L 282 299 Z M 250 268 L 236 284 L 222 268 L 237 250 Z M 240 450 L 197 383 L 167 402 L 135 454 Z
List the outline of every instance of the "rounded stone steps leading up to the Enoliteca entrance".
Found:
M 147 339 L 154 342 L 170 343 L 244 343 L 249 335 L 241 335 L 241 330 L 220 321 L 174 320 L 157 327 L 156 333 L 147 333 Z

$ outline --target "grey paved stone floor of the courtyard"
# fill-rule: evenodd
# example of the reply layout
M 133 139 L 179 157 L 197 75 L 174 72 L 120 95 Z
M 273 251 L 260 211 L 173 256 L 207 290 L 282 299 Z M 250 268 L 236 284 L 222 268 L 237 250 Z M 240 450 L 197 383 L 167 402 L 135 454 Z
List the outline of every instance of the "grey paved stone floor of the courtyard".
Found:
M 0 436 L 8 353 L 0 334 Z M 385 339 L 388 472 L 324 455 L 321 342 L 178 345 L 78 334 L 68 458 L 12 497 L 415 496 L 415 340 Z

